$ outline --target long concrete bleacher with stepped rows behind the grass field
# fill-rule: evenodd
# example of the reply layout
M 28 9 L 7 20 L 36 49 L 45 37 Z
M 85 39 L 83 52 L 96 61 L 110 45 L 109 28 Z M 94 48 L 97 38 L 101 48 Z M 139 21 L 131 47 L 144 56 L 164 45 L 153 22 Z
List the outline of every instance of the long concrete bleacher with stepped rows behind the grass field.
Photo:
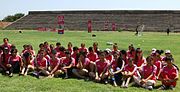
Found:
M 25 17 L 7 26 L 7 29 L 58 28 L 59 15 L 64 15 L 65 30 L 87 30 L 92 20 L 93 30 L 104 30 L 105 22 L 111 30 L 112 22 L 117 30 L 135 31 L 137 25 L 145 25 L 144 31 L 180 31 L 180 11 L 159 10 L 97 10 L 97 11 L 30 11 Z

